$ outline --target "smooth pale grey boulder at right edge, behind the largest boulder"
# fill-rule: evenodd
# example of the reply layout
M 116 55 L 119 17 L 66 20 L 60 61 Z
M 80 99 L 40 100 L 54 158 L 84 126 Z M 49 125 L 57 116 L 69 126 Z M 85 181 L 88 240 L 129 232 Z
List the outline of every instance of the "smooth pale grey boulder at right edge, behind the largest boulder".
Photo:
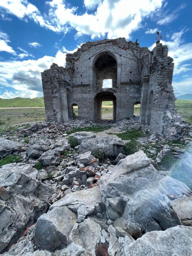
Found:
M 192 194 L 192 190 L 190 190 L 186 184 L 170 176 L 165 176 L 162 178 L 160 180 L 160 184 L 166 195 L 172 194 L 174 196 L 173 199 L 180 198 L 183 195 L 189 196 Z

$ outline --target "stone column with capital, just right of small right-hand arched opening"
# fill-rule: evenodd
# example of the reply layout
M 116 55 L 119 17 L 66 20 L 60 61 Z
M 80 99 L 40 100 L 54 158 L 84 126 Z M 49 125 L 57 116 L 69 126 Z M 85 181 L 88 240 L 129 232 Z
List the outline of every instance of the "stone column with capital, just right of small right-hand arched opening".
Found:
M 149 76 L 144 76 L 141 80 L 141 106 L 140 106 L 140 124 L 145 124 L 147 110 L 147 92 L 149 85 Z

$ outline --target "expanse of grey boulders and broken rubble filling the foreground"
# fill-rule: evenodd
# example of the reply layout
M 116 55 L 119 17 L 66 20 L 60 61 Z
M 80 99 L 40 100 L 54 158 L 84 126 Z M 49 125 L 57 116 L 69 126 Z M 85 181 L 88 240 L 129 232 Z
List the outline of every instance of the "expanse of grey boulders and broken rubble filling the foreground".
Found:
M 154 167 L 172 154 L 169 146 L 154 162 L 142 150 L 122 154 L 120 139 L 78 132 L 79 146 L 72 149 L 66 129 L 37 124 L 0 138 L 0 158 L 22 157 L 0 168 L 0 253 L 192 255 L 192 191 Z M 93 156 L 94 150 L 106 159 Z

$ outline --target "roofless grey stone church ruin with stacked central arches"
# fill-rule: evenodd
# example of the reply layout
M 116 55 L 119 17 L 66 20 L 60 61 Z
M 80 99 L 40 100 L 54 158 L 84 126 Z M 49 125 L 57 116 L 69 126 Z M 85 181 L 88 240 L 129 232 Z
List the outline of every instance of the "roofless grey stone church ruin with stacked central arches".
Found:
M 79 118 L 95 122 L 104 100 L 113 102 L 118 121 L 134 116 L 134 104 L 140 103 L 140 123 L 167 134 L 176 113 L 173 68 L 166 45 L 150 51 L 125 38 L 82 44 L 66 54 L 65 68 L 53 63 L 42 72 L 46 121 L 67 122 L 77 105 Z M 112 79 L 112 88 L 103 88 L 105 79 Z

